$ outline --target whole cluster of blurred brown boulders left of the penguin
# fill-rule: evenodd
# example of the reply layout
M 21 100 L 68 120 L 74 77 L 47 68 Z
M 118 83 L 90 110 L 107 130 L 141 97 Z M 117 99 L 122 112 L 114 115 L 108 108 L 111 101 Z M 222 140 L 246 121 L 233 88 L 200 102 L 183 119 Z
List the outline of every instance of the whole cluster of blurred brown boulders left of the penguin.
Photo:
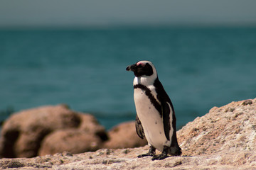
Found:
M 11 115 L 0 137 L 0 157 L 36 157 L 58 152 L 73 154 L 100 148 L 146 145 L 134 122 L 106 132 L 93 115 L 72 111 L 66 105 L 32 108 Z

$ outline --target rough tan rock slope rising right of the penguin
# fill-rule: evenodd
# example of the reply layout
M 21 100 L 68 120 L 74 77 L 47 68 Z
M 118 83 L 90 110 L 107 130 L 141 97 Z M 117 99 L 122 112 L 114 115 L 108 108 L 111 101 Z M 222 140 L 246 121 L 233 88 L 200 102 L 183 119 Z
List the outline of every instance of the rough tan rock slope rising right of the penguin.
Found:
M 256 99 L 214 107 L 184 126 L 177 135 L 183 155 L 187 156 L 230 153 L 234 157 L 255 151 Z

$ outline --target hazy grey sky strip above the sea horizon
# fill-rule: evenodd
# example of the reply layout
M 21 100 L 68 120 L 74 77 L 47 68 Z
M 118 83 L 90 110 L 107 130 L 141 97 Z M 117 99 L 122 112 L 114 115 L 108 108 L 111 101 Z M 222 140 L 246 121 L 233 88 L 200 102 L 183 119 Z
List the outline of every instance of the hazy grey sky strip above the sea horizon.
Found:
M 0 28 L 256 26 L 255 0 L 0 0 Z

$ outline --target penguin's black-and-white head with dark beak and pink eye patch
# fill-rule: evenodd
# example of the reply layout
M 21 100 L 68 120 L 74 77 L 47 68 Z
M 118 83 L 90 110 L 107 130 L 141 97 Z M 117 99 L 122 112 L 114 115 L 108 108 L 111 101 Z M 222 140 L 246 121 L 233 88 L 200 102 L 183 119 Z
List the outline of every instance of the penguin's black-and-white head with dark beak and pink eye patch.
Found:
M 126 70 L 134 72 L 135 77 L 157 77 L 156 69 L 149 61 L 139 61 L 129 65 Z

